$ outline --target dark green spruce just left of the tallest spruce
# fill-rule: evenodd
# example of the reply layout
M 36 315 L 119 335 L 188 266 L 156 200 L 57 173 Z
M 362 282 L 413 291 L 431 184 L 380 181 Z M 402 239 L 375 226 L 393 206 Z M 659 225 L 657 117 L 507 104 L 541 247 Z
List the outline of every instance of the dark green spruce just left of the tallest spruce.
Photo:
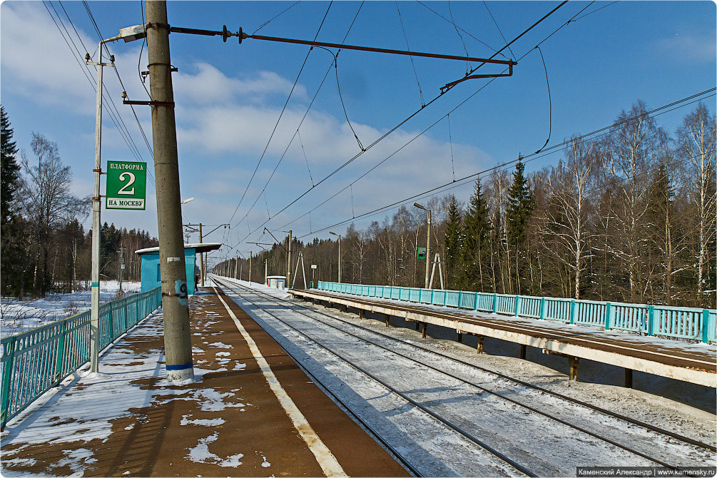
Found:
M 467 285 L 485 291 L 485 274 L 488 273 L 490 253 L 490 220 L 488 203 L 480 189 L 480 178 L 475 181 L 473 196 L 465 211 L 465 259 Z

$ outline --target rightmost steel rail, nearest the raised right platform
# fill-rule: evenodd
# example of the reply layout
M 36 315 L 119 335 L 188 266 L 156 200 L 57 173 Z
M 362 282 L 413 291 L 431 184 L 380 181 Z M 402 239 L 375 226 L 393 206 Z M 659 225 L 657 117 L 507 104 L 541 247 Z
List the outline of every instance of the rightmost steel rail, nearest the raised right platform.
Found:
M 242 287 L 244 287 L 244 286 L 242 286 Z M 263 292 L 260 292 L 260 291 L 255 291 L 255 292 L 257 292 L 258 294 L 266 295 L 267 297 L 272 297 L 271 295 L 264 294 Z M 327 297 L 331 297 L 331 296 L 327 296 Z M 274 297 L 272 297 L 272 298 L 274 298 Z M 711 445 L 711 444 L 703 443 L 702 441 L 698 441 L 698 440 L 695 440 L 695 439 L 691 439 L 691 438 L 689 438 L 688 436 L 680 435 L 680 434 L 677 434 L 677 433 L 675 433 L 675 432 L 673 432 L 673 431 L 661 429 L 661 428 L 658 427 L 658 426 L 654 426 L 654 425 L 651 425 L 651 424 L 647 424 L 647 423 L 645 423 L 644 421 L 640 421 L 640 420 L 637 420 L 637 419 L 632 419 L 631 417 L 625 416 L 625 415 L 622 415 L 622 414 L 617 414 L 616 412 L 609 411 L 609 410 L 607 410 L 607 409 L 605 409 L 605 408 L 602 408 L 602 407 L 593 405 L 592 403 L 587 403 L 587 402 L 585 402 L 585 401 L 578 400 L 577 398 L 573 398 L 573 397 L 570 397 L 570 396 L 566 396 L 566 395 L 563 395 L 563 394 L 561 394 L 561 393 L 558 393 L 558 392 L 555 392 L 555 391 L 551 391 L 551 390 L 549 390 L 549 389 L 547 389 L 547 388 L 543 388 L 543 387 L 540 387 L 540 386 L 533 385 L 532 383 L 528 383 L 528 382 L 522 381 L 522 380 L 520 380 L 520 379 L 518 379 L 518 378 L 513 378 L 513 377 L 511 377 L 511 376 L 507 376 L 507 375 L 505 375 L 505 374 L 503 374 L 503 373 L 500 373 L 500 372 L 491 371 L 491 370 L 489 370 L 488 368 L 480 367 L 480 365 L 475 365 L 474 363 L 470 363 L 470 362 L 467 362 L 467 361 L 465 361 L 465 360 L 460 360 L 460 358 L 451 357 L 450 355 L 446 355 L 446 354 L 444 354 L 444 353 L 437 352 L 436 350 L 431 350 L 431 349 L 429 349 L 429 348 L 424 348 L 424 347 L 422 347 L 421 345 L 417 345 L 417 344 L 415 344 L 415 343 L 407 343 L 407 342 L 405 342 L 404 340 L 401 340 L 401 339 L 399 339 L 399 338 L 392 337 L 391 335 L 387 335 L 387 334 L 384 334 L 384 333 L 380 333 L 380 332 L 377 332 L 376 330 L 371 330 L 371 329 L 369 329 L 369 328 L 361 327 L 361 325 L 356 325 L 356 324 L 354 324 L 353 322 L 348 322 L 347 320 L 343 320 L 343 319 L 341 319 L 341 318 L 339 318 L 339 317 L 334 317 L 333 315 L 326 314 L 325 312 L 320 312 L 319 310 L 315 310 L 313 307 L 307 307 L 307 306 L 305 306 L 305 305 L 303 305 L 303 304 L 297 304 L 297 303 L 294 303 L 293 305 L 295 305 L 295 306 L 297 306 L 297 307 L 303 307 L 304 309 L 310 310 L 310 311 L 315 312 L 315 313 L 318 313 L 319 315 L 326 315 L 326 317 L 330 317 L 330 318 L 332 318 L 333 320 L 338 320 L 339 322 L 343 322 L 343 323 L 346 323 L 346 324 L 348 324 L 348 325 L 352 325 L 353 327 L 359 328 L 359 329 L 361 329 L 361 330 L 366 330 L 367 332 L 373 333 L 373 334 L 375 334 L 375 335 L 380 335 L 381 337 L 389 338 L 389 339 L 391 339 L 391 340 L 394 340 L 394 341 L 396 341 L 396 342 L 403 343 L 403 344 L 405 344 L 405 345 L 411 345 L 412 347 L 414 347 L 414 348 L 419 348 L 419 349 L 423 350 L 424 352 L 432 353 L 432 354 L 438 355 L 438 356 L 440 356 L 440 357 L 442 357 L 442 358 L 448 358 L 448 359 L 453 360 L 453 361 L 455 361 L 455 362 L 457 362 L 457 363 L 460 363 L 460 364 L 462 364 L 462 365 L 467 365 L 467 366 L 469 366 L 469 367 L 471 367 L 471 368 L 475 368 L 476 370 L 479 370 L 479 371 L 482 371 L 482 372 L 485 372 L 485 373 L 490 373 L 490 374 L 492 374 L 492 375 L 494 375 L 494 376 L 497 376 L 497 377 L 499 377 L 499 378 L 503 378 L 504 380 L 511 381 L 511 382 L 513 382 L 513 383 L 517 383 L 518 385 L 526 386 L 526 387 L 528 387 L 528 388 L 532 388 L 532 389 L 535 390 L 535 391 L 539 391 L 539 392 L 541 392 L 541 393 L 546 393 L 546 394 L 548 394 L 548 395 L 550 395 L 550 396 L 554 396 L 554 397 L 556 397 L 556 398 L 561 398 L 562 400 L 569 401 L 569 402 L 571 402 L 571 403 L 575 403 L 576 405 L 583 406 L 583 407 L 585 407 L 585 408 L 589 408 L 589 409 L 592 410 L 592 411 L 597 411 L 597 412 L 599 412 L 599 413 L 602 413 L 602 414 L 605 414 L 605 415 L 608 415 L 608 416 L 612 416 L 612 417 L 615 418 L 615 419 L 619 419 L 619 420 L 622 420 L 622 421 L 627 421 L 627 423 L 630 423 L 630 424 L 633 424 L 633 425 L 637 425 L 637 426 L 641 426 L 642 428 L 648 429 L 648 430 L 650 430 L 650 431 L 654 431 L 655 433 L 663 434 L 663 435 L 665 435 L 665 436 L 670 436 L 670 437 L 673 438 L 673 439 L 677 439 L 677 440 L 679 440 L 679 441 L 683 441 L 683 442 L 685 442 L 685 443 L 687 443 L 687 444 L 691 444 L 691 445 L 694 445 L 694 446 L 698 446 L 698 447 L 703 448 L 703 449 L 708 449 L 708 450 L 711 450 L 711 451 L 717 451 L 717 447 L 715 447 L 715 446 L 713 446 L 713 445 Z M 329 324 L 326 324 L 326 325 L 329 325 Z M 348 332 L 346 332 L 346 333 L 348 333 Z M 349 334 L 350 334 L 350 333 L 349 333 Z M 364 340 L 365 340 L 365 339 L 364 339 Z M 378 345 L 378 344 L 376 344 L 376 345 Z M 380 346 L 380 345 L 379 345 L 379 346 Z M 430 366 L 430 365 L 428 365 L 428 366 Z M 490 393 L 493 393 L 493 392 L 490 392 Z

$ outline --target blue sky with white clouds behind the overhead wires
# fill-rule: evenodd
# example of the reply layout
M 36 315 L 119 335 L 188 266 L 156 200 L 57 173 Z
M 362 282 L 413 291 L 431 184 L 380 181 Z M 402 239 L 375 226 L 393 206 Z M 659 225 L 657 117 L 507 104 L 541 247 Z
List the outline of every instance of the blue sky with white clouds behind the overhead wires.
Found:
M 244 32 L 252 33 L 292 4 L 177 1 L 168 3 L 168 19 L 178 27 L 221 29 L 222 24 L 227 24 L 231 30 L 242 27 Z M 428 6 L 446 18 L 452 14 L 458 27 L 485 43 L 461 32 L 471 56 L 489 57 L 505 44 L 501 32 L 510 41 L 558 4 L 489 1 L 488 9 L 500 27 L 499 32 L 482 1 L 452 1 L 450 10 L 443 1 L 424 4 L 367 1 L 358 16 L 360 2 L 335 1 L 328 8 L 325 1 L 301 1 L 257 34 L 313 39 L 328 8 L 318 33 L 319 41 L 340 43 L 356 16 L 346 39 L 348 44 L 406 49 L 408 40 L 413 51 L 465 54 L 453 24 Z M 237 243 L 259 228 L 269 215 L 271 219 L 266 224 L 269 229 L 284 229 L 282 226 L 341 191 L 437 120 L 439 123 L 375 171 L 316 209 L 310 224 L 309 216 L 304 216 L 288 227 L 308 240 L 313 237 L 312 231 L 450 182 L 454 169 L 455 176 L 460 178 L 510 161 L 518 153 L 532 153 L 546 140 L 549 102 L 543 62 L 538 51 L 531 49 L 588 4 L 583 1 L 565 4 L 511 45 L 516 58 L 529 52 L 514 68 L 513 77 L 498 78 L 489 85 L 489 80 L 463 82 L 282 214 L 277 211 L 310 188 L 312 181 L 315 183 L 359 153 L 339 100 L 332 54 L 313 49 L 308 55 L 274 138 L 237 209 L 308 47 L 256 39 L 246 39 L 241 45 L 236 39 L 229 39 L 225 44 L 219 37 L 171 34 L 171 59 L 179 68 L 174 74 L 174 90 L 181 194 L 195 198 L 184 206 L 185 220 L 222 224 L 237 209 L 231 231 L 220 228 L 205 240 L 227 242 L 234 247 L 228 252 L 231 255 L 237 250 L 243 254 L 250 249 L 256 251 L 258 247 Z M 89 1 L 87 5 L 103 38 L 143 21 L 140 1 Z M 407 39 L 399 23 L 397 5 Z M 96 59 L 98 37 L 82 2 L 4 1 L 0 6 L 1 102 L 9 114 L 19 148 L 29 153 L 32 131 L 56 141 L 63 161 L 72 167 L 73 191 L 86 196 L 92 189 L 95 92 L 82 72 L 84 66 L 77 64 L 77 54 L 72 56 L 48 9 L 52 16 L 56 11 L 60 15 L 80 54 L 84 56 L 85 48 L 74 29 Z M 715 87 L 713 2 L 594 2 L 581 16 L 541 44 L 552 100 L 549 145 L 609 125 L 622 110 L 629 110 L 635 100 L 643 100 L 648 108 L 653 108 Z M 62 24 L 60 30 L 65 33 Z M 123 83 L 135 100 L 147 99 L 138 75 L 138 63 L 141 70 L 146 70 L 147 64 L 146 47 L 140 57 L 141 47 L 141 42 L 110 44 Z M 511 52 L 504 53 L 511 57 Z M 373 143 L 421 107 L 419 85 L 427 102 L 438 95 L 442 85 L 462 77 L 466 68 L 465 62 L 414 58 L 414 73 L 408 57 L 348 50 L 338 54 L 337 65 L 346 113 L 364 145 Z M 299 128 L 301 139 L 296 136 L 290 143 L 329 67 L 323 87 Z M 485 65 L 481 69 L 500 70 L 498 65 Z M 94 79 L 93 68 L 87 74 Z M 143 161 L 151 163 L 131 110 L 121 104 L 122 88 L 117 77 L 111 70 L 105 70 L 105 78 Z M 449 139 L 448 120 L 444 116 L 481 87 L 483 90 L 450 114 Z M 713 96 L 708 98 L 707 105 L 714 111 Z M 694 106 L 660 115 L 657 122 L 673 132 Z M 136 107 L 136 111 L 151 142 L 148 107 Z M 265 194 L 260 196 L 284 150 L 285 157 Z M 560 156 L 556 152 L 531 161 L 527 170 L 556 163 Z M 107 160 L 136 161 L 136 157 L 105 114 L 103 163 Z M 146 211 L 103 211 L 103 221 L 156 234 L 153 183 L 148 183 L 148 187 Z M 451 192 L 465 201 L 472 188 L 473 184 L 467 183 Z M 256 205 L 250 210 L 255 200 Z M 356 221 L 356 226 L 364 227 L 374 219 L 381 221 L 392 212 Z M 85 224 L 90 224 L 89 219 Z M 275 233 L 279 234 L 283 235 Z M 328 237 L 328 231 L 316 235 Z M 269 236 L 261 236 L 259 229 L 246 240 L 272 242 Z M 191 240 L 196 239 L 194 234 Z M 226 251 L 228 248 L 217 257 Z

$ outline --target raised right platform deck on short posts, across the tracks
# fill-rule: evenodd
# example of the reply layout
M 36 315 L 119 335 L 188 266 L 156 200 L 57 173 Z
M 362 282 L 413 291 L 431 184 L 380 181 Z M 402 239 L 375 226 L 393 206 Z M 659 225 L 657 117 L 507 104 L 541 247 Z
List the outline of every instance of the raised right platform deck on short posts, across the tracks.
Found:
M 569 360 L 569 376 L 576 378 L 579 359 L 625 368 L 625 385 L 631 386 L 632 371 L 717 387 L 717 347 L 667 338 L 599 330 L 581 325 L 567 325 L 528 317 L 507 317 L 488 312 L 419 305 L 399 300 L 363 297 L 323 290 L 288 290 L 295 297 L 325 305 L 350 307 L 359 315 L 366 312 L 388 317 L 402 317 L 422 325 L 439 325 L 462 334 L 478 336 L 478 352 L 483 338 L 497 338 L 526 347 L 563 355 Z

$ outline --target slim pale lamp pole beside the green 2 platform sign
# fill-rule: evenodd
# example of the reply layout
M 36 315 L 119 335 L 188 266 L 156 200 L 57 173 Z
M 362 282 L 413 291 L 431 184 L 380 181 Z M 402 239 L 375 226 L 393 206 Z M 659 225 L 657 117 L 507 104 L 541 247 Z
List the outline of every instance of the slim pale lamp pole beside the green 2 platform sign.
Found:
M 100 175 L 102 174 L 102 43 L 98 46 L 95 115 L 95 188 L 92 195 L 92 292 L 90 296 L 90 371 L 98 371 L 100 355 Z

